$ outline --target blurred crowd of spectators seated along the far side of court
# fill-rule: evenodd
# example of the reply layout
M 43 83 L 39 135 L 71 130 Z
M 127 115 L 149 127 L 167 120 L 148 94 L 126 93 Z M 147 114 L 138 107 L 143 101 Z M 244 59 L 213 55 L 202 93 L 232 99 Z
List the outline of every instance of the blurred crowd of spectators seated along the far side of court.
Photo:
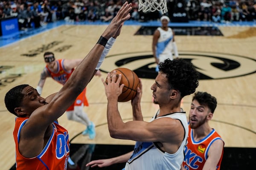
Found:
M 56 20 L 109 22 L 125 1 L 133 4 L 130 20 L 143 22 L 145 16 L 155 20 L 161 15 L 158 11 L 152 14 L 138 11 L 138 0 L 0 0 L 0 19 L 15 16 L 18 18 L 20 29 L 43 27 Z M 256 20 L 256 0 L 180 0 L 179 2 L 183 3 L 189 20 L 216 23 Z M 170 16 L 177 6 L 177 0 L 167 0 L 167 6 L 172 6 L 172 10 L 167 14 Z

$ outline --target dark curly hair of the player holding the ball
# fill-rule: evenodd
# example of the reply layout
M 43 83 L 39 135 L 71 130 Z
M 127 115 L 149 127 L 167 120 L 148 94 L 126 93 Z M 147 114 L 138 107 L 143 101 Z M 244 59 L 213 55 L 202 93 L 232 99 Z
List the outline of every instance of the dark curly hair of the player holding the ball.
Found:
M 166 59 L 160 62 L 159 71 L 166 74 L 170 89 L 180 91 L 181 97 L 194 93 L 198 87 L 199 74 L 191 62 L 180 58 Z

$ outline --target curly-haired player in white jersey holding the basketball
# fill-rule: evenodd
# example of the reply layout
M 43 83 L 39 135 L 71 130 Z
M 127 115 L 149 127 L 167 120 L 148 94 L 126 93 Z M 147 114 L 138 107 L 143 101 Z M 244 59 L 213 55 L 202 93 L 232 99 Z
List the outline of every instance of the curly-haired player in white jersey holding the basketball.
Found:
M 91 161 L 87 166 L 104 167 L 114 163 L 126 162 L 124 170 L 180 170 L 184 159 L 189 127 L 186 112 L 180 108 L 181 99 L 192 94 L 198 87 L 198 73 L 191 63 L 183 59 L 166 59 L 159 64 L 159 72 L 154 84 L 154 103 L 159 110 L 150 122 L 143 121 L 140 100 L 142 83 L 137 95 L 131 101 L 133 121 L 123 122 L 118 111 L 118 96 L 124 84 L 119 86 L 121 74 L 112 80 L 108 73 L 105 94 L 108 99 L 108 129 L 111 137 L 136 141 L 134 151 L 113 159 Z M 183 73 L 183 74 L 180 74 Z

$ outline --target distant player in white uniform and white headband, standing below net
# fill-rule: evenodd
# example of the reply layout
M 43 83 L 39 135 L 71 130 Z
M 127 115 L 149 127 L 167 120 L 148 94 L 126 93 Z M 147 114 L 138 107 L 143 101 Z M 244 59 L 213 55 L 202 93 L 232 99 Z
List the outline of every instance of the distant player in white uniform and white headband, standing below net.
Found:
M 153 42 L 152 42 L 152 51 L 153 56 L 156 60 L 156 71 L 158 70 L 158 65 L 160 62 L 163 62 L 165 59 L 173 59 L 172 52 L 175 57 L 178 57 L 178 49 L 174 39 L 175 33 L 172 28 L 168 27 L 168 23 L 170 22 L 169 17 L 162 16 L 160 18 L 162 23 L 162 27 L 158 27 L 156 31 L 154 31 Z

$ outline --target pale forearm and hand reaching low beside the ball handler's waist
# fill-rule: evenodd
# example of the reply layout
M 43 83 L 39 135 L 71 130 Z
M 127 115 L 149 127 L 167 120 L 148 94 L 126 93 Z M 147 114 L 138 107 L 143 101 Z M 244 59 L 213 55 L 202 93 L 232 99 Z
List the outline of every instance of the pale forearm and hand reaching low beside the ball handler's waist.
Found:
M 129 158 L 131 157 L 132 152 L 133 151 L 131 151 L 129 153 L 125 153 L 121 156 L 110 158 L 110 159 L 99 159 L 99 160 L 90 161 L 88 164 L 86 164 L 86 166 L 87 167 L 88 166 L 91 166 L 91 167 L 108 167 L 108 166 L 111 166 L 112 164 L 127 162 L 129 160 Z

